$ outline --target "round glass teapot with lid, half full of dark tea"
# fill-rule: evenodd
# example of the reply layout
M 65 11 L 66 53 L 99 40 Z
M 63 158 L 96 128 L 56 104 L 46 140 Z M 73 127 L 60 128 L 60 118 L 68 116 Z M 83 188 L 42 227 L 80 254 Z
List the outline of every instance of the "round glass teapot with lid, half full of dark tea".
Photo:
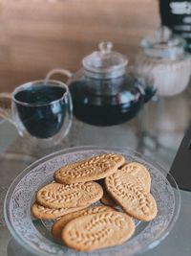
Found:
M 83 67 L 67 82 L 74 116 L 95 126 L 129 121 L 155 92 L 127 71 L 128 59 L 112 48 L 112 42 L 99 43 L 99 50 L 83 58 Z

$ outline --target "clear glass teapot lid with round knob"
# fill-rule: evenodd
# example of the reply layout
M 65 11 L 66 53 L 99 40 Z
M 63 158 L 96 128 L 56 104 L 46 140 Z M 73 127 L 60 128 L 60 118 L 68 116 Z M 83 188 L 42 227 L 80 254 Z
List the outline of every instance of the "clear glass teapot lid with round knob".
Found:
M 100 42 L 99 51 L 82 59 L 85 73 L 93 78 L 117 78 L 126 72 L 128 59 L 117 52 L 112 51 L 113 43 Z

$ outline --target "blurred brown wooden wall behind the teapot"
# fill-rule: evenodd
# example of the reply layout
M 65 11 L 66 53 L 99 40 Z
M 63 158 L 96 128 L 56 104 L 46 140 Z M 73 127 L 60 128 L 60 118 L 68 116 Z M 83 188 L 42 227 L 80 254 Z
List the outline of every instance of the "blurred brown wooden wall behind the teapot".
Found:
M 133 63 L 138 43 L 159 26 L 158 0 L 0 0 L 0 92 L 72 71 L 101 40 Z

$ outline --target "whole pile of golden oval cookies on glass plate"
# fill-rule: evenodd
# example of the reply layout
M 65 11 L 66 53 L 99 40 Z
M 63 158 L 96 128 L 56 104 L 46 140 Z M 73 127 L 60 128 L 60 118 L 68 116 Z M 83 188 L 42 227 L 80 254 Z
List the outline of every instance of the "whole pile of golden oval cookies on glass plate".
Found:
M 121 154 L 104 153 L 63 166 L 53 178 L 55 182 L 36 193 L 32 215 L 61 217 L 53 224 L 53 238 L 76 250 L 122 244 L 135 231 L 132 217 L 151 221 L 157 215 L 148 170 L 126 163 Z M 110 206 L 91 206 L 99 199 Z

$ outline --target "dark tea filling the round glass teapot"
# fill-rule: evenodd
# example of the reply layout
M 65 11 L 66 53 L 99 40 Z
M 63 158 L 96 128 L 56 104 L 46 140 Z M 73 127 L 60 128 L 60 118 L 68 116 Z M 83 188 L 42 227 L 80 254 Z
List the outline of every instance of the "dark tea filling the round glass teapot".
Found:
M 110 85 L 101 86 L 104 88 Z M 143 97 L 136 87 L 132 87 L 131 91 L 124 87 L 119 92 L 113 92 L 111 88 L 111 95 L 101 94 L 102 90 L 92 90 L 84 81 L 74 81 L 69 87 L 73 97 L 74 115 L 91 125 L 113 126 L 127 122 L 137 115 L 143 105 Z

